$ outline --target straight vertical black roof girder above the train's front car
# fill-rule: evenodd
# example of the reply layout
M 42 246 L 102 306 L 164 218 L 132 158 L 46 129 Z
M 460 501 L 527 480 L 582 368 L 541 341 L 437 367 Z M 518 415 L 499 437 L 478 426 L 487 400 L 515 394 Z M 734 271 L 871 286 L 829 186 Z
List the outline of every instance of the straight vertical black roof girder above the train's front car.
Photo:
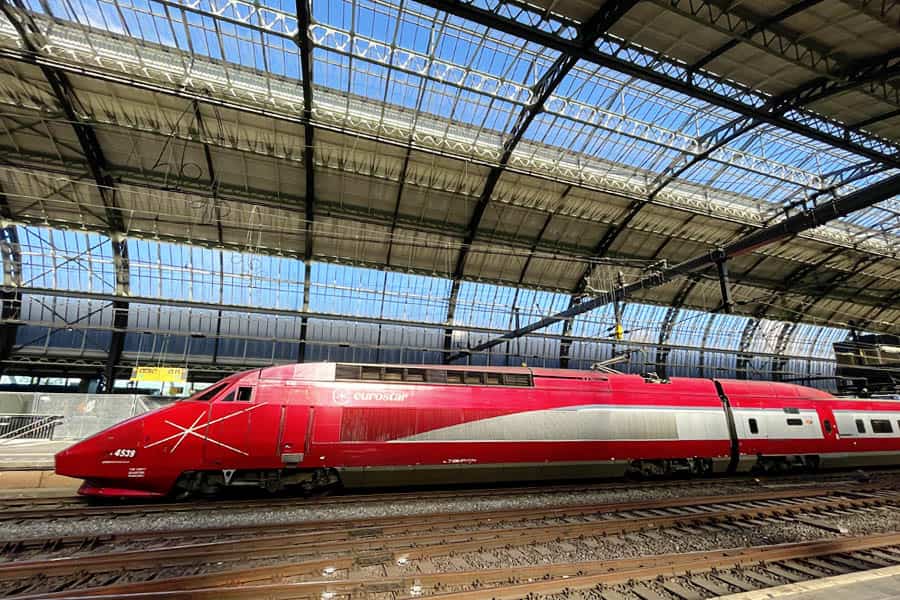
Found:
M 304 235 L 304 278 L 303 278 L 303 310 L 309 309 L 309 292 L 312 285 L 312 266 L 310 262 L 313 256 L 313 222 L 315 220 L 316 187 L 313 173 L 315 163 L 313 161 L 313 126 L 312 126 L 312 43 L 309 39 L 309 26 L 311 22 L 311 0 L 296 0 L 297 6 L 297 33 L 294 41 L 300 47 L 300 76 L 303 85 L 303 169 L 306 171 L 306 193 L 303 197 L 303 205 L 306 212 Z M 309 332 L 309 319 L 303 317 L 300 321 L 300 343 L 297 347 L 297 362 L 306 361 L 306 337 Z

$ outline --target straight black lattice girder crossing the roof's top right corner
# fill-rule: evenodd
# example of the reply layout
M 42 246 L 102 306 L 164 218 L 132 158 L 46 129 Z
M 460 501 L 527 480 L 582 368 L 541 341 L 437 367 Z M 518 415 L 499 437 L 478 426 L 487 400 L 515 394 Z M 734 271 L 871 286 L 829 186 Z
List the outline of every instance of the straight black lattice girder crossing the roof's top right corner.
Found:
M 691 72 L 677 59 L 610 34 L 601 35 L 593 48 L 581 48 L 556 31 L 538 29 L 529 22 L 517 20 L 509 7 L 521 5 L 512 0 L 501 0 L 492 10 L 461 0 L 422 0 L 422 3 L 743 116 L 759 118 L 810 139 L 900 167 L 900 147 L 891 141 L 802 108 L 785 114 L 767 111 L 764 107 L 769 98 L 760 91 L 706 71 Z

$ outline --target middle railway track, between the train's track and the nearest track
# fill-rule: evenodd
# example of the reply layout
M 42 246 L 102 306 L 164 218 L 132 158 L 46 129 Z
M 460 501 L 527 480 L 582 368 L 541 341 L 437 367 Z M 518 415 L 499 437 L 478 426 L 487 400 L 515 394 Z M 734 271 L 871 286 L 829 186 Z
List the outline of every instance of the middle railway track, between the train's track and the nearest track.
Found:
M 168 546 L 153 548 L 147 545 L 150 538 L 132 537 L 131 541 L 142 544 L 140 550 L 98 552 L 98 547 L 94 547 L 90 552 L 82 551 L 66 558 L 6 564 L 0 567 L 0 592 L 6 596 L 30 598 L 66 597 L 76 591 L 78 594 L 119 595 L 258 585 L 290 579 L 296 581 L 290 589 L 304 594 L 309 591 L 321 598 L 333 593 L 328 586 L 338 585 L 344 589 L 340 586 L 363 585 L 360 582 L 366 577 L 362 575 L 373 571 L 381 570 L 383 576 L 398 582 L 407 581 L 406 574 L 411 569 L 419 572 L 417 577 L 421 573 L 432 573 L 434 561 L 441 557 L 461 560 L 459 557 L 476 552 L 628 536 L 638 532 L 674 539 L 691 530 L 753 530 L 779 519 L 834 516 L 882 506 L 893 507 L 898 503 L 900 492 L 896 490 L 863 490 L 856 486 L 853 489 L 769 490 L 754 494 L 553 509 L 454 513 L 434 515 L 424 522 L 421 516 L 316 522 L 290 529 L 282 525 L 277 534 L 271 528 L 231 531 L 229 539 L 217 539 L 209 531 L 195 531 L 191 532 L 190 541 L 181 542 L 185 538 L 173 540 L 156 532 L 152 535 L 156 536 L 157 544 L 168 542 Z M 213 537 L 204 541 L 204 535 Z M 591 568 L 600 568 L 597 565 L 590 567 L 588 563 L 578 564 L 582 570 L 573 571 L 567 577 L 584 577 L 593 572 Z M 465 562 L 459 566 L 462 568 L 457 570 L 466 570 Z M 548 567 L 528 567 L 526 570 L 529 568 Z M 572 567 L 558 565 L 558 568 L 562 573 Z M 521 568 L 514 572 L 516 577 L 521 577 Z M 437 578 L 433 581 L 426 578 L 431 583 L 422 583 L 420 578 L 420 583 L 412 585 L 430 585 L 433 589 L 429 593 L 445 592 L 448 582 L 458 575 L 432 574 Z M 507 583 L 509 578 L 510 571 L 507 570 Z M 466 592 L 462 588 L 457 591 Z M 304 596 L 301 594 L 300 597 Z

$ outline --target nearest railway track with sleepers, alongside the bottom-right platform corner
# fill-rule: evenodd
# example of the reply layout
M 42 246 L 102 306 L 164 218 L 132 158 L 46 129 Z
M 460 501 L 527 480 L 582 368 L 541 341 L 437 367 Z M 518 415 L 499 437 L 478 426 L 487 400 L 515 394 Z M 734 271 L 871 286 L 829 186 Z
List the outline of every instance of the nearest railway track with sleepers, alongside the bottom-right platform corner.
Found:
M 784 583 L 900 564 L 900 534 L 843 540 L 664 554 L 640 559 L 583 561 L 509 569 L 416 573 L 237 586 L 210 578 L 208 587 L 169 590 L 133 586 L 117 598 L 244 600 L 267 598 L 421 598 L 435 600 L 538 600 L 541 598 L 671 598 L 698 600 Z M 222 583 L 222 585 L 218 585 Z M 43 596 L 51 598 L 54 596 Z M 56 597 L 64 597 L 57 595 Z M 90 597 L 81 595 L 78 597 Z

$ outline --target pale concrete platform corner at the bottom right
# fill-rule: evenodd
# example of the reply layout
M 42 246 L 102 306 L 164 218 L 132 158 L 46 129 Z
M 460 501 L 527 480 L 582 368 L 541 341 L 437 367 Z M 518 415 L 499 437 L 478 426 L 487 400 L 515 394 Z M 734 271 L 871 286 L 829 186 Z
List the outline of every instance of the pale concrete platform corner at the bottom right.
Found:
M 900 599 L 900 566 L 813 579 L 743 594 L 719 596 L 719 600 L 894 600 Z

